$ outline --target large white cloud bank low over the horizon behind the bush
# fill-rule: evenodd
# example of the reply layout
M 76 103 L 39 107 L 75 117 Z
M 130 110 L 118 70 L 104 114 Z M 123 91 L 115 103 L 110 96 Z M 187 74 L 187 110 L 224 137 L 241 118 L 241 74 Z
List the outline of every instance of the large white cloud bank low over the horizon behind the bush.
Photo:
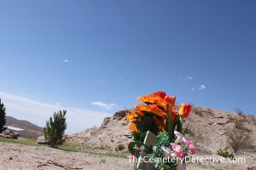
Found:
M 83 108 L 62 106 L 59 103 L 48 104 L 35 99 L 26 98 L 20 95 L 0 92 L 0 99 L 6 108 L 7 116 L 14 116 L 20 120 L 32 122 L 40 127 L 45 126 L 55 111 L 67 111 L 66 133 L 81 132 L 92 126 L 100 126 L 106 116 L 106 112 L 91 111 Z

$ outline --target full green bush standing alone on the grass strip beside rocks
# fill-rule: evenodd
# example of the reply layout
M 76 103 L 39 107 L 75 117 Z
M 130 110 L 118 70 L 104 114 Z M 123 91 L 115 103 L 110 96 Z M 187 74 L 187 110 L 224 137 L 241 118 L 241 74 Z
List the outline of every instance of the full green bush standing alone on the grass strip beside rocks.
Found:
M 58 111 L 54 113 L 53 117 L 49 117 L 49 122 L 46 122 L 44 136 L 51 147 L 56 147 L 57 144 L 61 145 L 64 143 L 63 137 L 67 129 L 66 113 L 67 111 Z

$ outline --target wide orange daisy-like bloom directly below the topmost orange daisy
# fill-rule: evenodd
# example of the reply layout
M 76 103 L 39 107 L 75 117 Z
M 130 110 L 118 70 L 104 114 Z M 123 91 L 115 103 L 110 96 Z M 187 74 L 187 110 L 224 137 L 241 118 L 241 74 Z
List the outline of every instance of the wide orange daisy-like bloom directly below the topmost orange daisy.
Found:
M 164 111 L 160 110 L 157 105 L 143 105 L 139 104 L 137 105 L 137 109 L 139 111 L 147 111 L 149 114 L 153 113 L 154 116 L 160 116 L 164 119 L 166 119 L 167 115 Z

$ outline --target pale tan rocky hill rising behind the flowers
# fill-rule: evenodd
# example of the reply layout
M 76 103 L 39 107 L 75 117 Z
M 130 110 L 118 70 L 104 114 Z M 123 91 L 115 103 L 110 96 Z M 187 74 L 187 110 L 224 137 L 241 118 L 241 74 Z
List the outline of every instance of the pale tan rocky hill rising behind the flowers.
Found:
M 125 111 L 119 111 L 112 117 L 106 117 L 101 127 L 92 127 L 84 132 L 68 136 L 67 142 L 79 143 L 111 152 L 129 154 L 127 144 L 131 141 L 131 132 L 125 122 Z M 241 126 L 245 132 L 252 136 L 252 143 L 256 145 L 256 117 L 244 114 L 234 114 L 228 111 L 219 111 L 202 107 L 194 107 L 190 116 L 183 123 L 189 125 L 188 138 L 195 141 L 198 156 L 218 156 L 218 149 L 225 149 L 227 144 L 227 129 Z M 234 151 L 229 148 L 230 151 Z M 244 169 L 245 164 L 255 166 L 255 148 L 239 150 L 235 156 L 244 156 L 246 162 L 239 164 Z M 212 165 L 211 165 L 212 166 Z M 219 165 L 217 165 L 218 167 Z M 228 166 L 224 165 L 224 166 Z M 229 168 L 229 167 L 224 167 Z M 232 168 L 231 168 L 232 169 Z

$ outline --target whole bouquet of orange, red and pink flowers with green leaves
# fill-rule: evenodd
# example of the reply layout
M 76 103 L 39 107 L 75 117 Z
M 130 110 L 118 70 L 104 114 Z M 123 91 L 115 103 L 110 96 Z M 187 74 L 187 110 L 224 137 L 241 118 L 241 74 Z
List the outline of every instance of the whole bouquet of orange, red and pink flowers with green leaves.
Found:
M 176 97 L 167 96 L 165 92 L 155 92 L 137 99 L 144 104 L 136 105 L 136 109 L 126 116 L 133 136 L 128 150 L 136 160 L 134 169 L 137 169 L 140 156 L 152 158 L 154 169 L 186 169 L 184 158 L 195 154 L 195 144 L 182 134 L 183 118 L 189 116 L 191 105 L 182 104 L 176 111 Z M 145 144 L 148 132 L 156 136 L 154 144 Z

